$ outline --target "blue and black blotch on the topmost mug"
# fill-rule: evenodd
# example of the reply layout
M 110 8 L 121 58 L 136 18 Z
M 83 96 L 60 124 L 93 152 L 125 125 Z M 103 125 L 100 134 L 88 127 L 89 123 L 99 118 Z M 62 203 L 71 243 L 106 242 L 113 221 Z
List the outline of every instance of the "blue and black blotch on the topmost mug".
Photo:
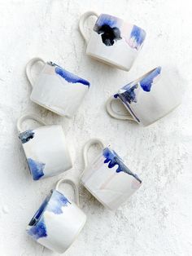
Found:
M 100 15 L 94 25 L 94 31 L 101 34 L 102 42 L 106 46 L 113 46 L 117 40 L 122 39 L 117 19 L 111 15 Z

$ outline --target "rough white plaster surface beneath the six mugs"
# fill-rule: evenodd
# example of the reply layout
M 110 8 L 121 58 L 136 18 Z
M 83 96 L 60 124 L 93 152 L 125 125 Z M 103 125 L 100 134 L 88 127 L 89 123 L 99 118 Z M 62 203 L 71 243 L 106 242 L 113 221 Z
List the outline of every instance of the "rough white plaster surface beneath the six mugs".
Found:
M 91 137 L 111 143 L 143 185 L 116 212 L 105 210 L 80 187 L 88 219 L 65 255 L 192 254 L 191 8 L 190 0 L 0 0 L 1 256 L 59 255 L 31 240 L 25 227 L 59 177 L 77 179 L 83 169 L 81 148 Z M 77 22 L 89 9 L 121 16 L 146 29 L 141 55 L 129 73 L 85 56 Z M 24 65 L 33 56 L 53 60 L 91 82 L 71 120 L 30 101 Z M 107 115 L 104 103 L 111 93 L 161 64 L 177 64 L 188 82 L 177 110 L 146 128 Z M 16 119 L 28 111 L 63 125 L 73 170 L 33 182 L 15 129 Z

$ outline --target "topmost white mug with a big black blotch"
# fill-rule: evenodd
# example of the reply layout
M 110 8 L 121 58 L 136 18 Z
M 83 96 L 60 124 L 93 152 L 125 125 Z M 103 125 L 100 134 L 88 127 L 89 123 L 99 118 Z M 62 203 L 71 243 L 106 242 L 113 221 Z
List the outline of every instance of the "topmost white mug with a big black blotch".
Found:
M 84 29 L 89 16 L 97 17 L 90 39 Z M 87 55 L 125 71 L 132 67 L 146 38 L 146 32 L 136 25 L 112 15 L 98 15 L 94 11 L 81 15 L 79 29 L 87 43 Z

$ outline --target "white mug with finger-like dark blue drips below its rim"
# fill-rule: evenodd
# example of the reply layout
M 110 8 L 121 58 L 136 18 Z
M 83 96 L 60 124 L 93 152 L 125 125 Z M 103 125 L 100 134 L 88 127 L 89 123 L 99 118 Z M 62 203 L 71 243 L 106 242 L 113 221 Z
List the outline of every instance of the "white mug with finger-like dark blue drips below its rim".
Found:
M 88 163 L 88 151 L 94 144 L 100 145 L 102 152 Z M 110 147 L 105 147 L 100 139 L 90 139 L 83 151 L 85 170 L 81 183 L 107 209 L 116 210 L 142 185 L 142 180 L 133 174 L 124 161 Z

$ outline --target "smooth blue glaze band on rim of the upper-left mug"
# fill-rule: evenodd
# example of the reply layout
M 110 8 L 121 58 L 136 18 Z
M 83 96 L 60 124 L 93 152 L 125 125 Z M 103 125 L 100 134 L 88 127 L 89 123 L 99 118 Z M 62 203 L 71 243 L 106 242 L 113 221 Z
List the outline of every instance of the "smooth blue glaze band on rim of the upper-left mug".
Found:
M 60 68 L 58 65 L 55 64 L 55 73 L 57 73 L 59 76 L 63 77 L 67 82 L 72 83 L 81 83 L 84 86 L 90 86 L 89 82 L 82 79 L 81 77 L 77 77 L 76 75 L 68 72 L 67 70 Z

